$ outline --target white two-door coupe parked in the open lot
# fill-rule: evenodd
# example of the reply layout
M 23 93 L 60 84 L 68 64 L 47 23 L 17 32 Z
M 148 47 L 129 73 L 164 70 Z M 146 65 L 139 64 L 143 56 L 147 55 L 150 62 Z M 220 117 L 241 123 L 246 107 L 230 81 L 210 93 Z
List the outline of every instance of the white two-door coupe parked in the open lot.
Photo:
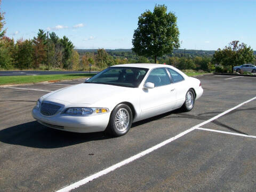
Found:
M 41 124 L 54 129 L 121 136 L 131 124 L 182 108 L 193 109 L 201 82 L 180 70 L 159 64 L 109 67 L 77 84 L 43 95 L 32 111 Z

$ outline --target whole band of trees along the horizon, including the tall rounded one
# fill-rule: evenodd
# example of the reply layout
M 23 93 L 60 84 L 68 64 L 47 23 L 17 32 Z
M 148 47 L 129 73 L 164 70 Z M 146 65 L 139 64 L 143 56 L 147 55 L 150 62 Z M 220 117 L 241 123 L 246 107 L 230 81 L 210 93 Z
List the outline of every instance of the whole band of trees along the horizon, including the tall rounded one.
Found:
M 1 0 L 0 0 L 1 5 Z M 217 51 L 178 49 L 179 29 L 174 13 L 165 5 L 155 5 L 138 18 L 131 50 L 76 50 L 67 36 L 39 29 L 33 39 L 5 35 L 4 13 L 0 10 L 0 69 L 102 70 L 124 63 L 165 63 L 179 69 L 233 73 L 235 65 L 255 63 L 250 46 L 239 41 Z

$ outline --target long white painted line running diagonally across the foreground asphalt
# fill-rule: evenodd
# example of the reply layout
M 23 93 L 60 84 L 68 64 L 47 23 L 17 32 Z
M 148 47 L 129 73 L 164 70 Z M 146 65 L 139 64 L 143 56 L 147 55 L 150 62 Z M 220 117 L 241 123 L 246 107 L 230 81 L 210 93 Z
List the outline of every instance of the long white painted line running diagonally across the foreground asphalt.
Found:
M 249 99 L 249 100 L 247 100 L 247 101 L 245 101 L 245 102 L 243 102 L 243 103 L 240 103 L 239 105 L 237 105 L 237 106 L 235 106 L 235 107 L 233 107 L 233 108 L 231 108 L 231 109 L 228 109 L 228 110 L 224 111 L 223 113 L 221 113 L 221 114 L 219 114 L 219 115 L 217 115 L 217 116 L 214 116 L 214 117 L 208 119 L 207 121 L 204 121 L 204 122 L 202 122 L 202 123 L 200 123 L 200 124 L 198 124 L 198 125 L 195 125 L 195 126 L 191 127 L 190 129 L 188 129 L 188 130 L 186 130 L 186 131 L 183 131 L 182 133 L 180 133 L 180 134 L 178 134 L 178 135 L 176 135 L 176 136 L 174 136 L 174 137 L 172 137 L 172 138 L 170 138 L 170 139 L 167 139 L 167 140 L 165 140 L 165 141 L 163 141 L 163 142 L 161 142 L 161 143 L 159 143 L 159 144 L 157 144 L 157 145 L 155 145 L 155 146 L 153 146 L 153 147 L 151 147 L 151 148 L 149 148 L 149 149 L 146 149 L 146 150 L 142 151 L 141 153 L 139 153 L 139 154 L 137 154 L 137 155 L 134 155 L 134 156 L 132 156 L 132 157 L 130 157 L 130 158 L 127 158 L 127 159 L 125 159 L 125 160 L 122 161 L 122 162 L 119 162 L 119 163 L 117 163 L 117 164 L 115 164 L 115 165 L 112 165 L 112 166 L 108 167 L 108 168 L 105 169 L 105 170 L 102 170 L 102 171 L 100 171 L 100 172 L 98 172 L 98 173 L 95 173 L 95 174 L 93 174 L 93 175 L 91 175 L 91 176 L 89 176 L 89 177 L 86 177 L 86 178 L 84 178 L 84 179 L 82 179 L 82 180 L 80 180 L 80 181 L 77 181 L 77 182 L 75 182 L 75 183 L 73 183 L 73 184 L 71 184 L 71 185 L 69 185 L 69 186 L 63 187 L 62 189 L 60 189 L 60 190 L 58 190 L 58 191 L 56 191 L 56 192 L 67 192 L 67 191 L 73 190 L 73 189 L 75 189 L 75 188 L 78 188 L 78 187 L 80 187 L 80 186 L 82 186 L 82 185 L 85 185 L 87 182 L 90 182 L 90 181 L 92 181 L 92 180 L 94 180 L 94 179 L 97 179 L 97 178 L 101 177 L 102 175 L 105 175 L 105 174 L 107 174 L 107 173 L 109 173 L 109 172 L 111 172 L 111 171 L 114 171 L 114 170 L 118 169 L 119 167 L 122 167 L 122 166 L 124 166 L 124 165 L 126 165 L 126 164 L 128 164 L 128 163 L 131 163 L 131 162 L 133 162 L 134 160 L 136 160 L 136 159 L 138 159 L 138 158 L 140 158 L 140 157 L 143 157 L 143 156 L 145 156 L 145 155 L 151 153 L 152 151 L 154 151 L 154 150 L 156 150 L 156 149 L 159 149 L 159 148 L 161 148 L 161 147 L 167 145 L 168 143 L 170 143 L 170 142 L 172 142 L 172 141 L 174 141 L 174 140 L 176 140 L 176 139 L 182 137 L 183 135 L 185 135 L 185 134 L 187 134 L 187 133 L 189 133 L 189 132 L 191 132 L 191 131 L 194 131 L 195 129 L 198 129 L 198 128 L 201 127 L 202 125 L 205 125 L 205 124 L 207 124 L 207 123 L 210 123 L 211 121 L 213 121 L 213 120 L 215 120 L 215 119 L 217 119 L 217 118 L 219 118 L 219 117 L 221 117 L 221 116 L 223 116 L 223 115 L 229 113 L 230 111 L 235 110 L 235 109 L 238 108 L 238 107 L 241 107 L 241 106 L 244 105 L 245 103 L 248 103 L 248 102 L 250 102 L 250 101 L 253 101 L 254 99 L 256 99 L 256 97 L 254 97 L 254 98 L 252 98 L 252 99 Z

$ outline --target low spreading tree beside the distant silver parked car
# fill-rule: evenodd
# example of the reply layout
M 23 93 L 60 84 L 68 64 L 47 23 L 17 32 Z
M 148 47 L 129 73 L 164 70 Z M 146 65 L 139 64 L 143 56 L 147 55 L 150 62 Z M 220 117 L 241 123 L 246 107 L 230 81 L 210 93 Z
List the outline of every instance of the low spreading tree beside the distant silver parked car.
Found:
M 233 41 L 225 46 L 225 49 L 218 49 L 213 54 L 212 61 L 219 65 L 231 66 L 232 73 L 235 65 L 243 65 L 246 62 L 253 62 L 254 55 L 251 47 L 239 41 Z

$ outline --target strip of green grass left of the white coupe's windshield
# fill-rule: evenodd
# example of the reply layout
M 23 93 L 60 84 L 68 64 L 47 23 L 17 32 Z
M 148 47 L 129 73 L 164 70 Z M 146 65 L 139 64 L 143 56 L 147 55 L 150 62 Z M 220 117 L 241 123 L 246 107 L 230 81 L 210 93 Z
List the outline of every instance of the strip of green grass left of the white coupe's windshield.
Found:
M 92 77 L 95 74 L 61 74 L 61 75 L 20 75 L 0 76 L 0 85 L 38 83 L 45 81 L 58 81 L 76 78 Z

